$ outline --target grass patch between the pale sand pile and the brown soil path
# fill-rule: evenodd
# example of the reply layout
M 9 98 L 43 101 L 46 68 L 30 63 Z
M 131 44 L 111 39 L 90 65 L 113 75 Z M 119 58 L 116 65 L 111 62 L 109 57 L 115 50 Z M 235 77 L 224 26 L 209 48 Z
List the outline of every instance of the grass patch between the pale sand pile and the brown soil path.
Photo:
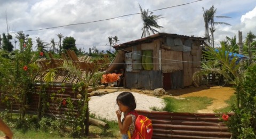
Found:
M 189 96 L 184 99 L 175 99 L 173 97 L 164 98 L 166 106 L 162 109 L 153 108 L 157 111 L 169 111 L 169 112 L 196 112 L 207 108 L 212 104 L 213 99 L 209 97 Z

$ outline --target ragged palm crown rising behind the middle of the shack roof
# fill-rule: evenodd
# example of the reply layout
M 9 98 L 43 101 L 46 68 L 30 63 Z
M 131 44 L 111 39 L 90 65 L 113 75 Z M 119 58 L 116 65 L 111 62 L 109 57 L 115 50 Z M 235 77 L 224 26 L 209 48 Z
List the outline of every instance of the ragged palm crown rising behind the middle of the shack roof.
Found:
M 140 6 L 140 4 L 139 4 L 139 6 Z M 150 32 L 155 34 L 156 32 L 159 32 L 156 29 L 163 28 L 162 26 L 159 26 L 156 22 L 156 20 L 162 18 L 162 14 L 161 15 L 153 15 L 153 12 L 149 13 L 148 10 L 147 11 L 142 10 L 141 6 L 140 6 L 140 12 L 141 12 L 141 19 L 143 21 L 143 27 L 141 28 L 141 30 L 142 30 L 141 38 L 150 36 Z

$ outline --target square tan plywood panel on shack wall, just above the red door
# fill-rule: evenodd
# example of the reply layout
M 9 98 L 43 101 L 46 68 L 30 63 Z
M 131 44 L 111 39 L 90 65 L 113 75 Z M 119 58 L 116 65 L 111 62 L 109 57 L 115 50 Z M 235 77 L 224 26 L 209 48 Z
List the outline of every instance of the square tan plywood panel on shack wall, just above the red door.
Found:
M 176 70 L 183 70 L 182 52 L 169 51 L 162 49 L 162 70 L 163 72 L 172 72 Z

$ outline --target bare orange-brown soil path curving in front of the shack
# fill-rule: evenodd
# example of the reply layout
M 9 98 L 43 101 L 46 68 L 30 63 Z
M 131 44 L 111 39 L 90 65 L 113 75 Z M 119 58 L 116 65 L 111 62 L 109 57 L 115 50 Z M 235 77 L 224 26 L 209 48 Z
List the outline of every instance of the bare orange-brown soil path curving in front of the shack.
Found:
M 212 86 L 206 87 L 201 86 L 199 88 L 190 87 L 185 89 L 177 89 L 169 91 L 173 96 L 178 97 L 187 97 L 187 96 L 206 96 L 210 97 L 213 100 L 212 105 L 206 109 L 197 111 L 198 113 L 213 113 L 214 110 L 224 108 L 228 104 L 225 102 L 229 100 L 230 96 L 235 93 L 234 89 L 231 87 L 221 87 L 221 86 Z

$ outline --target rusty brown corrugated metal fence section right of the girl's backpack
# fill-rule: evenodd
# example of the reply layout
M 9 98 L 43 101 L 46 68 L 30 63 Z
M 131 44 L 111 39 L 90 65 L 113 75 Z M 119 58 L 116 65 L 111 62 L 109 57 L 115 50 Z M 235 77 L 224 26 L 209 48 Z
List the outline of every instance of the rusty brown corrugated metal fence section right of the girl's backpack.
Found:
M 152 120 L 153 138 L 230 138 L 215 113 L 175 113 L 137 110 Z

